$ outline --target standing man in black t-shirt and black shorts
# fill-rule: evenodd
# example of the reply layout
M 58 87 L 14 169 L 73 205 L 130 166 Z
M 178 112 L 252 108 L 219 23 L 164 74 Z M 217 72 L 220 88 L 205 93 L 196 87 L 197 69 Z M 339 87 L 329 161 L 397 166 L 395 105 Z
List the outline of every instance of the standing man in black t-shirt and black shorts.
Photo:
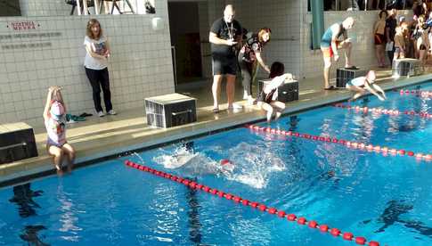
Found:
M 234 20 L 234 8 L 231 4 L 225 6 L 224 17 L 216 20 L 209 34 L 213 66 L 213 111 L 219 111 L 219 87 L 223 76 L 226 77 L 226 97 L 228 110 L 234 105 L 235 76 L 237 73 L 236 50 L 241 44 L 242 29 L 239 21 Z

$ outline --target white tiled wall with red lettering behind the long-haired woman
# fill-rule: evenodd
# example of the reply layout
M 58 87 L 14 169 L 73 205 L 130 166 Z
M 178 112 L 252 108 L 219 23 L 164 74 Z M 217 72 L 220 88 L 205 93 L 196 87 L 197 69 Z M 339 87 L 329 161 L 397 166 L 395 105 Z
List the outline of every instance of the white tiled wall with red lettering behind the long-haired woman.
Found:
M 156 3 L 156 15 L 99 15 L 110 40 L 110 88 L 114 109 L 143 107 L 143 99 L 174 92 L 167 1 Z M 160 17 L 165 29 L 153 30 Z M 90 16 L 1 18 L 0 36 L 61 33 L 61 37 L 0 39 L 0 123 L 40 124 L 48 86 L 63 86 L 71 113 L 94 113 L 86 78 L 83 46 Z M 36 30 L 13 30 L 14 21 L 35 21 Z M 8 28 L 9 26 L 9 28 Z M 4 45 L 51 42 L 51 46 L 4 49 Z

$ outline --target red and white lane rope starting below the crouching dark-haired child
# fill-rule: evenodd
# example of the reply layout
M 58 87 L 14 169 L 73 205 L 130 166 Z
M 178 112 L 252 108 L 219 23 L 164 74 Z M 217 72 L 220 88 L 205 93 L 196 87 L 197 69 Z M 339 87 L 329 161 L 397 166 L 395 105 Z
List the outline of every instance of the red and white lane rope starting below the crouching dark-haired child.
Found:
M 416 153 L 412 151 L 406 151 L 403 149 L 394 149 L 394 148 L 388 148 L 386 146 L 379 146 L 379 145 L 372 145 L 372 144 L 366 144 L 366 143 L 359 143 L 355 141 L 347 141 L 344 139 L 338 139 L 336 137 L 330 137 L 330 136 L 321 136 L 321 135 L 309 135 L 309 134 L 301 134 L 297 132 L 292 131 L 284 131 L 280 129 L 274 129 L 270 127 L 259 127 L 257 125 L 246 125 L 245 127 L 249 128 L 250 130 L 260 133 L 260 134 L 272 134 L 272 135 L 284 135 L 284 136 L 291 136 L 291 137 L 298 137 L 303 138 L 310 141 L 319 141 L 319 142 L 325 142 L 325 143 L 336 143 L 341 144 L 345 146 L 346 148 L 350 149 L 356 149 L 363 152 L 376 152 L 380 153 L 384 156 L 390 155 L 390 156 L 410 156 L 415 158 L 416 160 L 432 160 L 432 154 L 430 153 Z

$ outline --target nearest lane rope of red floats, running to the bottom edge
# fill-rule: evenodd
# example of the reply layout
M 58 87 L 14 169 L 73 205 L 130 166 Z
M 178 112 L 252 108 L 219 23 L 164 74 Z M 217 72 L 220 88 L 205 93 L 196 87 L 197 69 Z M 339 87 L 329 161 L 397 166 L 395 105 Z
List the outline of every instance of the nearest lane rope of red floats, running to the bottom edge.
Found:
M 315 220 L 309 221 L 306 219 L 306 217 L 298 217 L 295 214 L 288 214 L 283 210 L 279 210 L 276 208 L 269 208 L 269 207 L 265 206 L 265 204 L 263 204 L 263 203 L 259 203 L 257 201 L 249 201 L 249 200 L 241 198 L 238 195 L 234 195 L 232 193 L 224 193 L 223 191 L 217 190 L 215 188 L 211 188 L 211 187 L 204 185 L 204 184 L 196 183 L 192 180 L 189 180 L 189 179 L 186 179 L 186 178 L 183 178 L 180 176 L 174 176 L 174 175 L 168 174 L 166 172 L 159 171 L 157 169 L 153 169 L 153 168 L 149 168 L 149 167 L 144 166 L 144 165 L 136 164 L 130 160 L 125 160 L 125 164 L 128 167 L 135 168 L 135 169 L 141 170 L 143 172 L 148 172 L 148 173 L 151 173 L 152 175 L 155 175 L 155 176 L 164 177 L 164 178 L 167 178 L 171 181 L 177 182 L 179 184 L 183 184 L 190 189 L 194 189 L 194 190 L 197 190 L 200 192 L 210 193 L 210 194 L 216 195 L 217 197 L 219 197 L 221 199 L 224 198 L 226 200 L 233 201 L 236 204 L 241 204 L 243 206 L 249 206 L 249 207 L 252 207 L 253 209 L 258 209 L 262 212 L 267 212 L 268 214 L 277 216 L 279 218 L 286 218 L 290 222 L 297 222 L 297 225 L 307 225 L 309 228 L 317 229 L 322 233 L 329 233 L 335 237 L 342 238 L 346 241 L 355 242 L 355 243 L 360 244 L 360 245 L 379 246 L 379 242 L 376 242 L 376 241 L 368 242 L 366 240 L 366 238 L 363 236 L 355 236 L 354 234 L 352 234 L 350 232 L 342 232 L 338 228 L 330 227 L 330 225 L 325 225 L 325 224 L 321 225 L 318 222 L 316 222 Z

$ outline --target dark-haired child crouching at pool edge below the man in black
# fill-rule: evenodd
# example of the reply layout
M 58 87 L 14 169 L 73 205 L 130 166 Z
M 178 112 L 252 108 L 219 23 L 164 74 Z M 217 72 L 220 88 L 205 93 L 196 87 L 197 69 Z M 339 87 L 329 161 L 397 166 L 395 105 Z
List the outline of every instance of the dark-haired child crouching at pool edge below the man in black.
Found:
M 285 73 L 285 66 L 275 61 L 270 68 L 270 78 L 272 81 L 263 87 L 263 91 L 257 98 L 257 106 L 267 112 L 267 122 L 270 122 L 275 114 L 274 119 L 281 117 L 282 111 L 285 110 L 285 103 L 277 101 L 278 87 L 283 84 L 286 79 L 293 79 L 292 74 Z

